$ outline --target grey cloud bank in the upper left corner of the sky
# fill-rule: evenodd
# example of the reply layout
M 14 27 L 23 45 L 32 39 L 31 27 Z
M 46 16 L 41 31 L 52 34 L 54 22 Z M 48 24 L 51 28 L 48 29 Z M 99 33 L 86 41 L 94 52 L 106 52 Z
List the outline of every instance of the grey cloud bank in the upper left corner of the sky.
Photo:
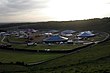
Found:
M 0 0 L 0 15 L 14 15 L 31 9 L 46 7 L 48 0 Z

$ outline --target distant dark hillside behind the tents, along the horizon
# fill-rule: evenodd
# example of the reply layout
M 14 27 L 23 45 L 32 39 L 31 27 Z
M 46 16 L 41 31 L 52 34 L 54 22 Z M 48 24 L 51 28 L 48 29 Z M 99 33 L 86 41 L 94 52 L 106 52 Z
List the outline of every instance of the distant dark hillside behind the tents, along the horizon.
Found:
M 94 18 L 88 20 L 76 21 L 49 21 L 49 22 L 34 22 L 34 23 L 9 23 L 0 25 L 0 29 L 73 29 L 73 30 L 110 30 L 110 18 Z

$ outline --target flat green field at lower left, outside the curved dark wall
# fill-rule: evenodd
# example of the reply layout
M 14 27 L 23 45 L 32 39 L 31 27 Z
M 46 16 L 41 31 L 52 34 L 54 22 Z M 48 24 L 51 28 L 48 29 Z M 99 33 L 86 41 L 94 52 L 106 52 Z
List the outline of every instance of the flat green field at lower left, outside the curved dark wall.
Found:
M 0 50 L 0 62 L 2 63 L 33 63 L 46 61 L 55 57 L 59 57 L 63 54 L 47 54 L 47 53 L 26 53 L 26 52 L 15 52 L 15 51 L 4 51 Z

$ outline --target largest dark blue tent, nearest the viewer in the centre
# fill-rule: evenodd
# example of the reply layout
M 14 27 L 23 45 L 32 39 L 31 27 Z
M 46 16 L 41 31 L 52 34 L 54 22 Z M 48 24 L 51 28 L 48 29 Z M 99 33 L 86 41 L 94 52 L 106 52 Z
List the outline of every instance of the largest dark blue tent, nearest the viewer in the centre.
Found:
M 45 43 L 67 42 L 68 38 L 59 35 L 53 35 L 43 40 Z

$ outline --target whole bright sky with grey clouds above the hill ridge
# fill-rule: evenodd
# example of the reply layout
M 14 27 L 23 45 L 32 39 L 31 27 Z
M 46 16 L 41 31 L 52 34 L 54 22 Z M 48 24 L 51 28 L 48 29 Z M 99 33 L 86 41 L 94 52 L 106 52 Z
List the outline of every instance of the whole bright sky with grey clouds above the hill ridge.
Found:
M 110 0 L 0 0 L 0 22 L 110 17 Z

